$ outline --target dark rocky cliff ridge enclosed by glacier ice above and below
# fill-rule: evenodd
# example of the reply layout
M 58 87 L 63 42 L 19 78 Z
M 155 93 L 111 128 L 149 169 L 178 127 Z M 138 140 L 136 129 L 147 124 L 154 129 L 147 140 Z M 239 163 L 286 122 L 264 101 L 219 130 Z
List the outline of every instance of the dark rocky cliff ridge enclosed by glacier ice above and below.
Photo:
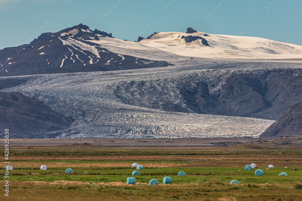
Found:
M 178 83 L 176 94 L 183 103 L 169 99 L 163 89 L 170 82 L 139 81 L 119 86 L 115 95 L 124 103 L 148 108 L 199 114 L 253 117 L 277 120 L 294 103 L 302 100 L 302 72 L 267 71 L 255 76 L 237 74 L 228 79 L 221 91 L 211 94 L 208 84 L 199 77 Z M 137 94 L 139 96 L 137 96 Z M 178 96 L 178 95 L 177 95 Z

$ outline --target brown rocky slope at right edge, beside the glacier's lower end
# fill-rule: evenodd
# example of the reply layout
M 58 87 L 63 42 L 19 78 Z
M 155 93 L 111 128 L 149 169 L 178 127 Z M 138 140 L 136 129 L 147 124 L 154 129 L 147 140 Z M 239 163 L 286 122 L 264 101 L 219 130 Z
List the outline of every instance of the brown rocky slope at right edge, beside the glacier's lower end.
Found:
M 275 138 L 286 135 L 302 135 L 302 102 L 292 105 L 260 137 Z

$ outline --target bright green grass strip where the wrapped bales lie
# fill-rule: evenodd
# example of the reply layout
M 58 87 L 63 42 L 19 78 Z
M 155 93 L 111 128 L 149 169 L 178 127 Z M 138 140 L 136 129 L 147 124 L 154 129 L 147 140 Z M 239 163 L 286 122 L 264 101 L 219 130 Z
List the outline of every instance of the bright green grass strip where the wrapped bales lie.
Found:
M 135 168 L 125 167 L 112 167 L 112 168 L 72 168 L 73 173 L 66 174 L 66 168 L 49 168 L 42 171 L 36 168 L 18 168 L 10 171 L 10 181 L 81 181 L 92 183 L 109 183 L 109 182 L 126 182 L 127 177 L 133 177 L 132 172 L 136 171 Z M 241 169 L 242 171 L 237 171 Z M 293 169 L 284 168 L 259 168 L 264 172 L 263 176 L 255 176 L 252 171 L 245 171 L 243 168 L 145 168 L 139 170 L 141 175 L 135 176 L 137 182 L 149 183 L 151 179 L 157 179 L 162 182 L 163 177 L 169 176 L 173 179 L 173 184 L 192 183 L 192 182 L 205 182 L 217 179 L 222 182 L 229 183 L 236 179 L 241 184 L 249 182 L 264 184 L 264 183 L 294 183 L 301 181 L 301 173 Z M 300 169 L 300 168 L 298 168 Z M 84 173 L 86 172 L 87 173 Z M 179 171 L 184 171 L 187 176 L 178 176 Z M 288 176 L 278 176 L 279 173 L 286 172 Z M 4 177 L 4 169 L 0 171 L 1 178 Z

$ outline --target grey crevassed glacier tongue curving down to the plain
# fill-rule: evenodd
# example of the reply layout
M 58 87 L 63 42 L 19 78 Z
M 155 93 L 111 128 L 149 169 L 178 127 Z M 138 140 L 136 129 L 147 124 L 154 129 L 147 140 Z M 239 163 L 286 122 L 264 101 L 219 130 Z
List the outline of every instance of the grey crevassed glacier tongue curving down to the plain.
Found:
M 281 64 L 280 64 L 281 65 Z M 121 87 L 138 81 L 153 81 L 157 93 L 165 94 L 161 101 L 172 101 L 186 107 L 182 95 L 175 86 L 192 79 L 201 79 L 215 93 L 223 83 L 235 74 L 257 74 L 263 69 L 191 69 L 192 66 L 140 69 L 132 71 L 108 71 L 39 75 L 13 88 L 49 105 L 61 116 L 73 117 L 71 127 L 43 133 L 37 137 L 258 137 L 274 121 L 164 111 L 145 107 L 137 100 L 156 94 L 133 91 L 135 99 L 121 101 L 117 93 Z M 33 76 L 34 77 L 34 76 Z M 1 78 L 5 79 L 5 78 Z M 162 84 L 164 83 L 164 84 Z M 170 84 L 165 84 L 170 83 Z M 151 88 L 150 88 L 151 90 Z M 121 94 L 120 94 L 121 95 Z M 147 97 L 148 96 L 148 97 Z M 151 97 L 151 98 L 152 98 Z M 154 99 L 154 101 L 158 101 Z M 146 102 L 148 104 L 148 102 Z

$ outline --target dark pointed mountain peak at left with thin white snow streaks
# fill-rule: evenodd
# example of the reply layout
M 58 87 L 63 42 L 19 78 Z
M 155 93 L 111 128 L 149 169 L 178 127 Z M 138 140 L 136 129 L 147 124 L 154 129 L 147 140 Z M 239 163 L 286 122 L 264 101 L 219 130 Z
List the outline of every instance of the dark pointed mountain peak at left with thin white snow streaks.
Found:
M 1 76 L 85 71 L 114 71 L 172 65 L 111 52 L 98 41 L 112 34 L 79 24 L 43 33 L 30 44 L 0 50 Z M 118 39 L 115 39 L 118 40 Z

